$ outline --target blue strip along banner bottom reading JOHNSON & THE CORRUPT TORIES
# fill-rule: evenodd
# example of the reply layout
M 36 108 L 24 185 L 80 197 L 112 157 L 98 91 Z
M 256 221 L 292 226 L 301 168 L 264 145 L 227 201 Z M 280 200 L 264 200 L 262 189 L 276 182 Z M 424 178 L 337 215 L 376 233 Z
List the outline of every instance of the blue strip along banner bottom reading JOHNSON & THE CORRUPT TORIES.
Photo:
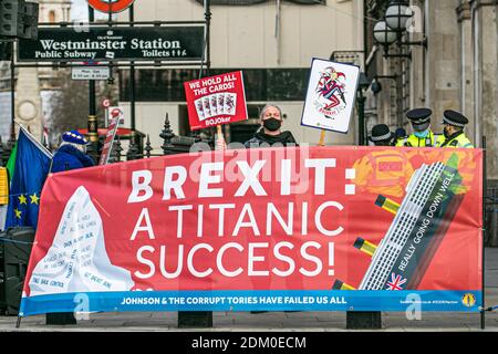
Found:
M 132 291 L 22 298 L 20 316 L 50 312 L 422 311 L 478 312 L 481 291 Z

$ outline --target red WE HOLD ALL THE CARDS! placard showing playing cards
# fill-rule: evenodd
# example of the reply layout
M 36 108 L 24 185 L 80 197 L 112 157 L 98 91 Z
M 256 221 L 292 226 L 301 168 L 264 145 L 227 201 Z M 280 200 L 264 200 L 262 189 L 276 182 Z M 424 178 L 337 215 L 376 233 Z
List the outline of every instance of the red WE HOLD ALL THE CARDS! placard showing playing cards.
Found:
M 184 86 L 191 131 L 248 118 L 242 72 L 194 80 Z

